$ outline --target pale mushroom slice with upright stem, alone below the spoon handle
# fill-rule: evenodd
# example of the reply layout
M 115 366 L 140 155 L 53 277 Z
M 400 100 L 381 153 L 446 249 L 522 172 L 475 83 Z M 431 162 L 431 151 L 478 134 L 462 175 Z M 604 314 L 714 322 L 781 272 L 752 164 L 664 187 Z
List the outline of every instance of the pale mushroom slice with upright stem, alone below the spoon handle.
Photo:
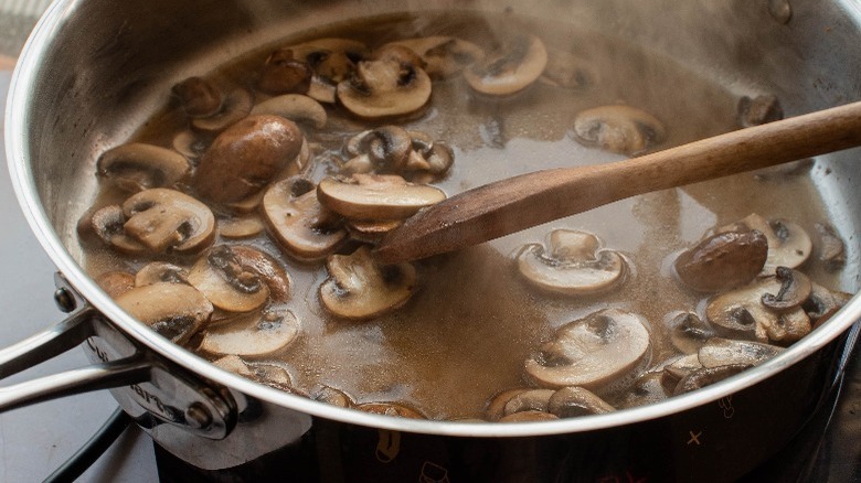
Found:
M 517 255 L 518 268 L 527 281 L 543 290 L 580 296 L 606 290 L 619 283 L 627 265 L 616 251 L 600 248 L 593 234 L 554 229 L 549 250 L 530 244 Z

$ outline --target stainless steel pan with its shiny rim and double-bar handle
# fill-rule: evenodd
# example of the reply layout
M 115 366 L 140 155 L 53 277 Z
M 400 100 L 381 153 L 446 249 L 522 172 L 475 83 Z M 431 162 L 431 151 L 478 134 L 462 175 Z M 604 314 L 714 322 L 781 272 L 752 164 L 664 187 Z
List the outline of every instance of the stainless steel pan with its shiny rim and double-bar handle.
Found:
M 255 384 L 158 336 L 123 312 L 84 272 L 75 223 L 95 196 L 93 172 L 98 153 L 121 142 L 163 105 L 171 85 L 320 23 L 404 10 L 501 12 L 511 8 L 540 19 L 566 19 L 577 28 L 598 29 L 733 85 L 767 88 L 782 99 L 787 115 L 861 99 L 857 67 L 861 65 L 861 3 L 795 0 L 788 6 L 791 17 L 787 20 L 779 14 L 786 12 L 780 10 L 783 3 L 776 0 L 541 0 L 528 7 L 451 0 L 54 2 L 20 57 L 6 112 L 6 142 L 19 201 L 59 268 L 57 300 L 71 315 L 0 352 L 0 377 L 77 344 L 92 354 L 95 365 L 4 388 L 0 408 L 113 387 L 124 409 L 159 444 L 208 470 L 246 464 L 274 451 L 311 444 L 309 439 L 316 448 L 310 464 L 318 466 L 323 460 L 326 464 L 338 461 L 344 468 L 352 464 L 359 457 L 351 457 L 344 448 L 349 446 L 346 441 L 355 440 L 361 441 L 357 444 L 370 441 L 369 459 L 376 460 L 373 464 L 385 468 L 394 461 L 403 468 L 418 468 L 433 458 L 454 461 L 451 454 L 465 451 L 458 458 L 469 459 L 464 454 L 477 451 L 503 454 L 524 444 L 565 451 L 577 444 L 636 440 L 638 432 L 660 430 L 671 441 L 656 447 L 657 451 L 663 451 L 667 465 L 677 468 L 672 475 L 678 477 L 685 468 L 705 464 L 682 441 L 688 439 L 688 425 L 697 418 L 712 421 L 716 432 L 723 431 L 730 439 L 750 440 L 770 432 L 774 444 L 785 442 L 805 422 L 804 415 L 787 416 L 776 409 L 779 415 L 740 428 L 737 419 L 726 417 L 726 407 L 740 415 L 747 409 L 740 405 L 756 406 L 765 395 L 797 404 L 799 412 L 821 404 L 821 395 L 840 377 L 844 356 L 854 344 L 854 329 L 861 320 L 858 297 L 826 326 L 773 361 L 665 402 L 559 422 L 395 419 L 327 406 Z M 857 186 L 861 163 L 852 162 L 859 155 L 853 150 L 819 159 L 828 169 L 812 174 L 832 223 L 851 240 L 843 280 L 847 290 L 858 289 L 860 272 L 861 247 L 853 235 L 861 225 L 861 190 Z M 775 421 L 778 417 L 783 422 Z M 395 440 L 400 442 L 395 444 Z M 429 449 L 411 452 L 407 447 L 414 443 L 411 448 Z M 472 448 L 474 443 L 481 449 Z M 448 457 L 440 455 L 440 447 L 448 448 Z M 764 458 L 773 448 L 709 451 L 719 457 L 751 453 L 750 458 L 740 457 L 745 462 L 737 468 L 715 470 L 733 477 L 746 471 L 745 464 L 753 464 L 747 460 Z M 580 464 L 551 460 L 530 461 L 536 468 L 556 470 L 560 464 Z

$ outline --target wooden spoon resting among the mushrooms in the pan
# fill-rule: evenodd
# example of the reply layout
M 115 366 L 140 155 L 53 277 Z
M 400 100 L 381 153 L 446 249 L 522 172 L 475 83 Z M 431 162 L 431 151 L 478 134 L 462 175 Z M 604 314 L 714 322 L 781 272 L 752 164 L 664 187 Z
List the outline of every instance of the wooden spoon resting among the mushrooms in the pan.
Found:
M 637 194 L 861 144 L 861 101 L 607 164 L 523 174 L 422 210 L 375 249 L 383 264 L 453 251 Z

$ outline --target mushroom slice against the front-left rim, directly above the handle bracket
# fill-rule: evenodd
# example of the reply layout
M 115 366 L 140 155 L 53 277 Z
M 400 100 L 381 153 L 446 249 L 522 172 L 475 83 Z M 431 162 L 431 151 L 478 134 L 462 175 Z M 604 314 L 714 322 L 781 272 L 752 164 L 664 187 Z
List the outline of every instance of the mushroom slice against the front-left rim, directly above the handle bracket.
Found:
M 183 344 L 212 315 L 212 303 L 184 283 L 152 283 L 117 297 L 117 304 L 153 331 Z

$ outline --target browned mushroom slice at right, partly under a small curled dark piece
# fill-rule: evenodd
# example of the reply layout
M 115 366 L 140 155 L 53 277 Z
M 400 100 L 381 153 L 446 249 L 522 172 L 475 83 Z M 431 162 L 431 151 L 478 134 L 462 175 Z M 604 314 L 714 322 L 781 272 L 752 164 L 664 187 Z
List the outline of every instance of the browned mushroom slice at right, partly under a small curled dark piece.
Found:
M 705 316 L 718 334 L 729 339 L 789 344 L 807 335 L 810 319 L 801 309 L 804 300 L 791 308 L 769 309 L 763 297 L 779 294 L 782 282 L 768 277 L 714 297 Z

